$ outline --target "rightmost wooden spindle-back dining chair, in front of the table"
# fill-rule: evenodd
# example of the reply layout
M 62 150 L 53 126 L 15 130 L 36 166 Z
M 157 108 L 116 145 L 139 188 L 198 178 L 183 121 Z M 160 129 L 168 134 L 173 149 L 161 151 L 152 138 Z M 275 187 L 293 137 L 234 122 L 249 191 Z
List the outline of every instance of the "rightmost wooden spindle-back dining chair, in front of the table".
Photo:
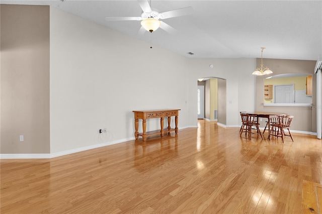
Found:
M 271 135 L 272 136 L 276 136 L 277 138 L 282 138 L 282 141 L 284 143 L 284 138 L 285 136 L 290 136 L 292 141 L 293 140 L 293 136 L 290 132 L 290 127 L 291 127 L 291 122 L 294 118 L 294 115 L 283 115 L 283 116 L 277 116 L 278 117 L 278 123 L 277 124 L 273 124 L 271 129 Z M 287 129 L 288 133 L 285 133 L 285 129 Z

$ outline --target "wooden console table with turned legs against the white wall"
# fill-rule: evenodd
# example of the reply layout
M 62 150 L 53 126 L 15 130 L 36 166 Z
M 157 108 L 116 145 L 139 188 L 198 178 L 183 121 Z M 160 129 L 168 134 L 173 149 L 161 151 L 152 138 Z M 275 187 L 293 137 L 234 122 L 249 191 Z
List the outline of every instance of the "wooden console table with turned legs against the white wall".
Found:
M 162 110 L 146 110 L 146 111 L 133 111 L 134 112 L 134 125 L 135 125 L 135 139 L 137 140 L 139 136 L 142 136 L 143 142 L 146 141 L 146 137 L 152 135 L 160 134 L 161 137 L 165 135 L 165 133 L 170 133 L 175 131 L 176 134 L 178 133 L 178 115 L 180 109 L 162 109 Z M 176 128 L 171 128 L 171 117 L 175 116 L 175 123 Z M 168 127 L 164 129 L 164 118 L 168 117 Z M 151 131 L 146 132 L 146 119 L 149 118 L 160 118 L 160 131 Z M 142 120 L 142 133 L 138 132 L 139 128 L 139 119 Z

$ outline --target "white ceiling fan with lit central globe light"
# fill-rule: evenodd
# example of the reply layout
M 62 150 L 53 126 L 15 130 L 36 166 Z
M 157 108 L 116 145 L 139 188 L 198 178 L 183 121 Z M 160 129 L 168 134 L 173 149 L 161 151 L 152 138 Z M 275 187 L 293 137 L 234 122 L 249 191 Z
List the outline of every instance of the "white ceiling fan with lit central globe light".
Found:
M 173 17 L 186 16 L 194 13 L 194 9 L 192 7 L 181 8 L 173 11 L 167 11 L 163 13 L 158 13 L 157 11 L 152 11 L 148 0 L 137 0 L 140 5 L 143 13 L 140 17 L 106 17 L 106 21 L 141 21 L 141 28 L 138 34 L 143 34 L 146 31 L 153 32 L 158 28 L 161 28 L 167 31 L 170 34 L 177 33 L 178 31 L 166 24 L 163 21 L 159 21 L 159 19 L 169 19 Z

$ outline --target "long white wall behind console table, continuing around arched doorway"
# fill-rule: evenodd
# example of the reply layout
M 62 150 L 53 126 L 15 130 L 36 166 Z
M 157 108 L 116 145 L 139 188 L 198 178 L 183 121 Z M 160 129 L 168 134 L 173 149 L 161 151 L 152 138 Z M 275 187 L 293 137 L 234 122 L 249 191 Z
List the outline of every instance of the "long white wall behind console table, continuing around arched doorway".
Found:
M 50 9 L 50 153 L 134 139 L 133 110 L 178 108 L 179 128 L 196 127 L 199 77 L 227 79 L 227 126 L 239 124 L 238 100 L 254 110 L 255 59 L 192 59 L 149 47 Z M 147 130 L 158 128 L 159 119 L 148 122 Z

